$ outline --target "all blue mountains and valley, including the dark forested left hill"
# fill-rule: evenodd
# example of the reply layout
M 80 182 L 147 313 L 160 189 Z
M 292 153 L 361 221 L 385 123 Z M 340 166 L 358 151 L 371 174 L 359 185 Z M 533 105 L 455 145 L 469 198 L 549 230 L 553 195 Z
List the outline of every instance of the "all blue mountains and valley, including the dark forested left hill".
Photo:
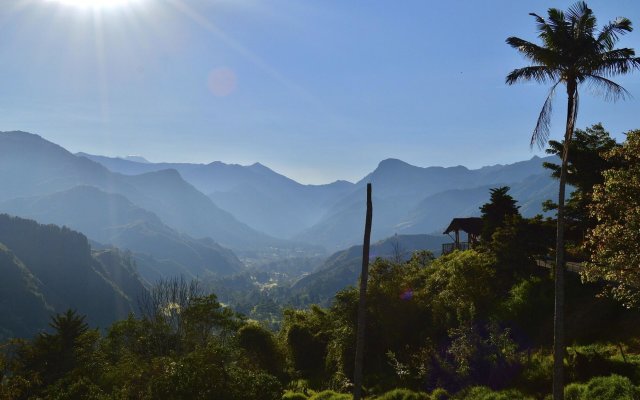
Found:
M 282 280 L 279 296 L 292 304 L 323 302 L 357 280 L 367 183 L 372 255 L 437 255 L 450 220 L 479 215 L 493 187 L 510 186 L 524 216 L 542 213 L 557 193 L 545 161 L 557 159 L 479 169 L 387 159 L 355 183 L 304 185 L 259 163 L 72 154 L 0 132 L 0 213 L 20 217 L 0 215 L 0 336 L 33 333 L 68 307 L 106 326 L 146 287 L 178 275 L 255 287 L 251 298 Z M 227 297 L 240 298 L 231 286 Z

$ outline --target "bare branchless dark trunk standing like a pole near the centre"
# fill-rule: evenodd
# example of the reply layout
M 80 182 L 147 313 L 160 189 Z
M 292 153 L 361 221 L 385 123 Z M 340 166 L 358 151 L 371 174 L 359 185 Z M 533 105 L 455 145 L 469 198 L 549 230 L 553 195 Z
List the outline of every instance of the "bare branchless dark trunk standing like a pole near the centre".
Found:
M 367 217 L 364 225 L 364 243 L 362 245 L 362 272 L 360 273 L 360 301 L 358 302 L 358 332 L 356 335 L 356 361 L 353 372 L 353 400 L 362 398 L 362 367 L 364 361 L 364 330 L 367 312 L 367 280 L 369 279 L 369 242 L 371 240 L 371 184 L 367 183 Z

